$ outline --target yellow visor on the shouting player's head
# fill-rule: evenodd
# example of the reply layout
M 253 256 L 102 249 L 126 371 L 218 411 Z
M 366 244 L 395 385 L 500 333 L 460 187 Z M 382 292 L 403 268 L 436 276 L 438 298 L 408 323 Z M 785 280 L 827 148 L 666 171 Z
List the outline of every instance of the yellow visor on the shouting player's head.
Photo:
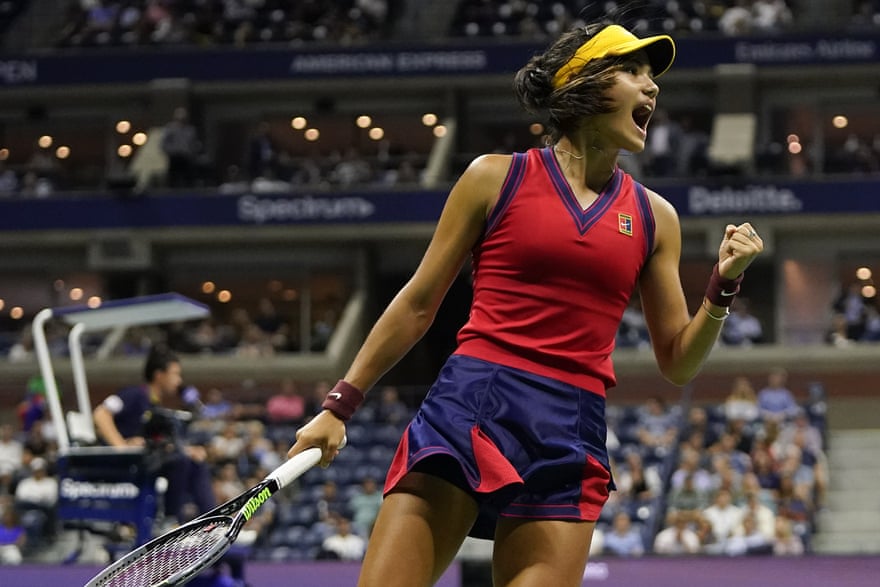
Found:
M 594 59 L 608 56 L 629 55 L 639 49 L 648 54 L 654 77 L 660 77 L 672 66 L 675 59 L 675 42 L 668 35 L 640 39 L 620 25 L 608 25 L 578 48 L 568 63 L 553 76 L 553 87 L 561 88 L 577 74 L 584 65 Z

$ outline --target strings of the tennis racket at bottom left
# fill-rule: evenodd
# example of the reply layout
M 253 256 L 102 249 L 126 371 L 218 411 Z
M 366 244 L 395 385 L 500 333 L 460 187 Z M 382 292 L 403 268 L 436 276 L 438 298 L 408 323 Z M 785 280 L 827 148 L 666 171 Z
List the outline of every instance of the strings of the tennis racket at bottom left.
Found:
M 232 519 L 206 520 L 204 525 L 187 528 L 168 540 L 113 569 L 94 583 L 95 587 L 151 587 L 175 574 L 199 566 L 218 543 L 227 540 Z

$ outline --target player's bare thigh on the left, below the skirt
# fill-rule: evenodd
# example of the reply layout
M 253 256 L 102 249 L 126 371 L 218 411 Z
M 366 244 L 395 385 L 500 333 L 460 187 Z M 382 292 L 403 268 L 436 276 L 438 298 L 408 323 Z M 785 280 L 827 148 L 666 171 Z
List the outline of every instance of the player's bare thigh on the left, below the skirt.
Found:
M 476 516 L 476 502 L 457 486 L 434 475 L 408 473 L 382 502 L 358 586 L 432 585 Z

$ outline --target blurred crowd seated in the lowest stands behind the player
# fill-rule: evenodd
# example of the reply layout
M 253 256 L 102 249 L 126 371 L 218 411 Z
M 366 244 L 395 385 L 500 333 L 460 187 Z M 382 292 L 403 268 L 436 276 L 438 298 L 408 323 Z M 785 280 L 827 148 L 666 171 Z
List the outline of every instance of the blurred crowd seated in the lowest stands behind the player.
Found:
M 218 503 L 286 458 L 296 428 L 319 411 L 328 389 L 325 381 L 286 379 L 261 390 L 200 394 L 184 441 L 204 447 Z M 813 389 L 797 391 L 806 399 L 796 399 L 785 371 L 775 369 L 757 391 L 749 378 L 735 378 L 718 404 L 612 402 L 608 447 L 617 491 L 597 525 L 594 556 L 809 552 L 828 482 L 824 403 Z M 424 390 L 408 392 L 380 386 L 368 396 L 334 466 L 309 471 L 249 523 L 241 541 L 247 556 L 363 556 L 385 470 Z M 4 564 L 37 560 L 64 528 L 54 513 L 57 447 L 46 412 L 35 378 L 15 422 L 0 426 Z M 130 539 L 126 532 L 107 538 Z

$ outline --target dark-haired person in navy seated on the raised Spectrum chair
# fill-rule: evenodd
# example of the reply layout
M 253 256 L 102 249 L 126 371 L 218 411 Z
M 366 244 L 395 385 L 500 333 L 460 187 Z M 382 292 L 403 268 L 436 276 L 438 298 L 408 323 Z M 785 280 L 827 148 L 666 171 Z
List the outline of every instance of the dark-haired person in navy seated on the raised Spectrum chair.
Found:
M 93 412 L 98 437 L 110 446 L 146 446 L 157 457 L 157 474 L 168 480 L 165 513 L 178 522 L 190 500 L 198 513 L 214 507 L 211 472 L 203 446 L 182 442 L 180 423 L 167 409 L 179 405 L 181 365 L 177 355 L 154 347 L 144 364 L 144 384 L 107 397 Z

